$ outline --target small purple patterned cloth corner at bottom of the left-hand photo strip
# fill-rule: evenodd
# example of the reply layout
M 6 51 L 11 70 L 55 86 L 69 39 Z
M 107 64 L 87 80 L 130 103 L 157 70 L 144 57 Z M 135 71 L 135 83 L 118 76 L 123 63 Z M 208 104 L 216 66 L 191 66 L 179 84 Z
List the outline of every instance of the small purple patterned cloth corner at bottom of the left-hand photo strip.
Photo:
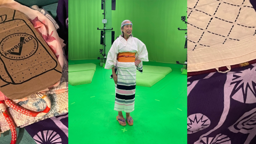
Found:
M 25 129 L 38 144 L 68 144 L 68 114 L 45 119 Z

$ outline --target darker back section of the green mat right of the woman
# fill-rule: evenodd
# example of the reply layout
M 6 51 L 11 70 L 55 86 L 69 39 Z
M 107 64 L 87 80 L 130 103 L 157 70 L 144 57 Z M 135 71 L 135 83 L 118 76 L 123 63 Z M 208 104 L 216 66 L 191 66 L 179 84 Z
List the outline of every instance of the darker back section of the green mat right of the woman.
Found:
M 143 73 L 155 73 L 167 75 L 172 72 L 170 67 L 148 66 L 143 65 Z

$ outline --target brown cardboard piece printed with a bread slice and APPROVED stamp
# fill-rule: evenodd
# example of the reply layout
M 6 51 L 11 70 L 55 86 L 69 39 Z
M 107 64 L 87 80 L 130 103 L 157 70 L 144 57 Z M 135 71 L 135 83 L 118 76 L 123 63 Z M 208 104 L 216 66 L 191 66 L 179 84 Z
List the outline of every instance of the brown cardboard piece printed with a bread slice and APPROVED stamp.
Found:
M 62 68 L 26 16 L 0 7 L 0 91 L 21 99 L 57 83 Z

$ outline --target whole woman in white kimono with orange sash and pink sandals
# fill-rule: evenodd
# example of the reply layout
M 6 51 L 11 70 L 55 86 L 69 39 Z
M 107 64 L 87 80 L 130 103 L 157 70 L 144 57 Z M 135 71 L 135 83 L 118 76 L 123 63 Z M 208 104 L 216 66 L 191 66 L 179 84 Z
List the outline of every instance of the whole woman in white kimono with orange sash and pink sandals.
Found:
M 124 20 L 121 32 L 108 52 L 105 68 L 112 69 L 116 87 L 114 110 L 118 111 L 116 120 L 122 126 L 126 125 L 122 111 L 126 113 L 126 121 L 133 125 L 130 113 L 134 110 L 136 71 L 142 73 L 142 61 L 148 61 L 145 44 L 132 36 L 132 22 Z

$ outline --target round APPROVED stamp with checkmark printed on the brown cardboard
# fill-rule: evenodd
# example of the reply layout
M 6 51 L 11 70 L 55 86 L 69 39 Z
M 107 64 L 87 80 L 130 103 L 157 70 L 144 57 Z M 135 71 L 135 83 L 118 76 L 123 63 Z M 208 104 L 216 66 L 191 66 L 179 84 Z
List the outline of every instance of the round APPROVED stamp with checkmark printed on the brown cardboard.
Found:
M 37 39 L 34 36 L 25 33 L 9 35 L 0 43 L 0 53 L 5 58 L 11 60 L 27 59 L 31 57 L 37 49 Z

